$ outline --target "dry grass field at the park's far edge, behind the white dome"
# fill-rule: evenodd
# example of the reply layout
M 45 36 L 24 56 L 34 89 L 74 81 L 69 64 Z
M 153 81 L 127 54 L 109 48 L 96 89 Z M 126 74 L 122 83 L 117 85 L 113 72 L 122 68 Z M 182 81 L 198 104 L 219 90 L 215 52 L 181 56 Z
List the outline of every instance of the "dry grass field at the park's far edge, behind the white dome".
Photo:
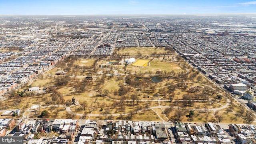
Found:
M 138 53 L 143 52 L 143 55 L 150 55 L 153 52 L 166 52 L 164 48 L 150 48 L 150 47 L 143 47 L 143 48 L 125 48 L 118 51 L 118 54 L 122 55 L 125 53 L 129 53 L 130 55 L 138 55 Z

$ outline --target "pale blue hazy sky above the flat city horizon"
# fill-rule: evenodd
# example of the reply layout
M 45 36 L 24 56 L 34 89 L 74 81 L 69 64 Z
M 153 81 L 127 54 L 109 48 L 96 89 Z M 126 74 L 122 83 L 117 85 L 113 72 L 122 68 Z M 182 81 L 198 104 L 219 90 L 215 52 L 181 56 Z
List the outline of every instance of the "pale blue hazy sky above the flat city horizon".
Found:
M 253 13 L 250 0 L 0 0 L 0 15 Z

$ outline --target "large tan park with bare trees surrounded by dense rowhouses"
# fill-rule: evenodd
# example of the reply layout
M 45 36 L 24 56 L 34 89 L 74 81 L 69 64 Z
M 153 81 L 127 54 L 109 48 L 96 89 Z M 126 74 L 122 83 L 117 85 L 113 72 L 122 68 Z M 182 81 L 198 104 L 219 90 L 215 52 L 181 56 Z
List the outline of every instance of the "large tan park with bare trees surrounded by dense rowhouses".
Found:
M 0 108 L 20 109 L 17 118 L 254 122 L 228 92 L 172 48 L 139 50 L 147 52 L 123 48 L 104 58 L 69 56 L 10 92 Z M 127 64 L 126 58 L 136 61 Z M 32 87 L 40 90 L 30 92 Z

